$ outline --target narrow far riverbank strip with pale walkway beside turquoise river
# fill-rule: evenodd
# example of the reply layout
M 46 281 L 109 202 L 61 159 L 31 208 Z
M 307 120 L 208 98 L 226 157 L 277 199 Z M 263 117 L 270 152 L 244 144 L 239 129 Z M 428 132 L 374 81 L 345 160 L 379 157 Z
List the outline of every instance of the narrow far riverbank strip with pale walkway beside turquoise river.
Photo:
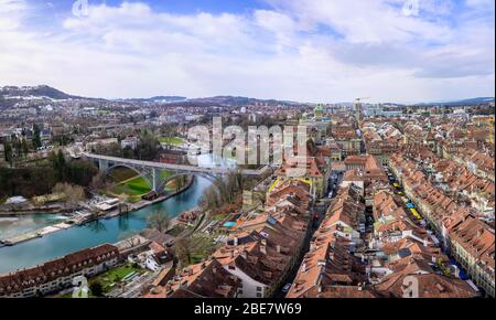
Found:
M 97 220 L 100 220 L 100 218 L 108 220 L 108 218 L 120 216 L 122 214 L 137 212 L 139 210 L 145 209 L 147 206 L 154 205 L 154 204 L 164 202 L 164 201 L 166 201 L 166 200 L 169 200 L 169 199 L 171 199 L 173 196 L 180 195 L 181 193 L 183 193 L 186 190 L 188 190 L 193 185 L 194 181 L 195 181 L 195 178 L 194 178 L 194 175 L 192 175 L 192 177 L 190 177 L 188 182 L 186 183 L 186 185 L 184 185 L 181 190 L 179 190 L 179 191 L 176 191 L 174 193 L 171 193 L 171 194 L 159 196 L 159 198 L 157 198 L 154 200 L 151 200 L 151 201 L 144 201 L 143 200 L 143 201 L 140 201 L 137 204 L 131 204 L 129 210 L 127 210 L 127 211 L 114 210 L 114 211 L 108 212 L 104 216 L 98 216 L 98 217 L 95 217 L 94 212 L 89 212 L 89 211 L 87 211 L 87 212 L 79 212 L 77 216 L 72 217 L 67 222 L 54 224 L 54 225 L 51 225 L 51 226 L 45 226 L 43 228 L 31 231 L 31 232 L 26 232 L 26 233 L 23 233 L 23 234 L 20 234 L 20 235 L 15 235 L 13 237 L 9 237 L 9 238 L 6 238 L 6 239 L 0 239 L 0 247 L 2 245 L 4 245 L 4 246 L 13 246 L 13 245 L 17 245 L 17 244 L 20 244 L 20 243 L 24 243 L 24 242 L 28 242 L 28 241 L 31 241 L 31 239 L 34 239 L 34 238 L 43 237 L 43 236 L 45 236 L 47 234 L 51 234 L 51 233 L 55 233 L 55 232 L 63 231 L 63 230 L 68 230 L 71 227 L 73 227 L 73 226 L 84 225 L 84 224 L 87 224 L 87 223 L 90 223 L 90 222 L 94 222 L 94 221 L 97 221 Z

